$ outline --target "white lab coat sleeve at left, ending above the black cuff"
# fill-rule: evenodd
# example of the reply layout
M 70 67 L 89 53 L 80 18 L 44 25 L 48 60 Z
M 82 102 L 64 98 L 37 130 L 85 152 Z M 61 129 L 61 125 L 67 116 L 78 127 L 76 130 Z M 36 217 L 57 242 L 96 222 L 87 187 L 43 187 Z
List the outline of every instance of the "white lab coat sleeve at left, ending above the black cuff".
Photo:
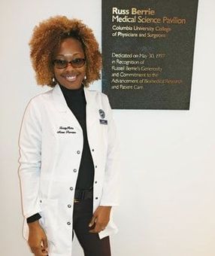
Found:
M 29 218 L 41 212 L 38 197 L 41 175 L 41 117 L 35 102 L 29 102 L 20 130 L 20 184 L 23 215 Z

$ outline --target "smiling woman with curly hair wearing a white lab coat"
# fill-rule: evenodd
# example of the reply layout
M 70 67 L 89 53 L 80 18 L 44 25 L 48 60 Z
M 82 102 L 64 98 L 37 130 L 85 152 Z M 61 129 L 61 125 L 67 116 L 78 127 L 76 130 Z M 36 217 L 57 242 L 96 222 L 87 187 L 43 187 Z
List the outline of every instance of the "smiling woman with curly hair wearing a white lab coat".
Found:
M 118 146 L 108 97 L 86 87 L 101 53 L 80 20 L 51 17 L 30 41 L 38 84 L 20 133 L 24 236 L 36 256 L 71 256 L 74 233 L 86 256 L 110 256 L 117 206 Z

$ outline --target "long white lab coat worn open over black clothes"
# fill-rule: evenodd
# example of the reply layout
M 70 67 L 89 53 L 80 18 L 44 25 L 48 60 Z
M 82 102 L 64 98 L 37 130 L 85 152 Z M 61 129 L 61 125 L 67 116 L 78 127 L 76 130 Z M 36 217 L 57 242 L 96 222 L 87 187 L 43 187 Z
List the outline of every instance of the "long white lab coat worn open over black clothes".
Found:
M 108 97 L 84 88 L 86 129 L 95 166 L 93 211 L 118 205 L 118 144 Z M 49 256 L 72 255 L 74 190 L 83 150 L 83 132 L 59 85 L 33 98 L 20 132 L 20 182 L 26 218 L 39 212 Z M 100 239 L 117 233 L 111 220 Z

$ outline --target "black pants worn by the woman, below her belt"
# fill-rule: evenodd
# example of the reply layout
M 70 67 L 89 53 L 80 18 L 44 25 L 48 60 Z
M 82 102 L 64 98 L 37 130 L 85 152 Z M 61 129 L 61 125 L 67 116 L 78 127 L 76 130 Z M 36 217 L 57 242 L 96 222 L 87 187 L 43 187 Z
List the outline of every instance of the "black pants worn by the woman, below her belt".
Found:
M 73 230 L 85 256 L 111 256 L 109 236 L 99 239 L 98 233 L 89 233 L 92 218 L 92 199 L 74 203 Z

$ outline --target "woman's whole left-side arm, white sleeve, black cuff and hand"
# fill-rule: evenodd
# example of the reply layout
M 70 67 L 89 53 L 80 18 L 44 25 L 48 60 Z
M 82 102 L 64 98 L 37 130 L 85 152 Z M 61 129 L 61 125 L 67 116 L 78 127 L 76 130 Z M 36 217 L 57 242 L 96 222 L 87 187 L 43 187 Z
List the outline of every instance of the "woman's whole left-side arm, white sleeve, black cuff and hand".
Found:
M 36 256 L 47 255 L 47 236 L 39 224 L 38 196 L 41 175 L 41 114 L 32 100 L 26 108 L 20 131 L 20 184 L 23 215 L 28 220 L 29 246 Z

